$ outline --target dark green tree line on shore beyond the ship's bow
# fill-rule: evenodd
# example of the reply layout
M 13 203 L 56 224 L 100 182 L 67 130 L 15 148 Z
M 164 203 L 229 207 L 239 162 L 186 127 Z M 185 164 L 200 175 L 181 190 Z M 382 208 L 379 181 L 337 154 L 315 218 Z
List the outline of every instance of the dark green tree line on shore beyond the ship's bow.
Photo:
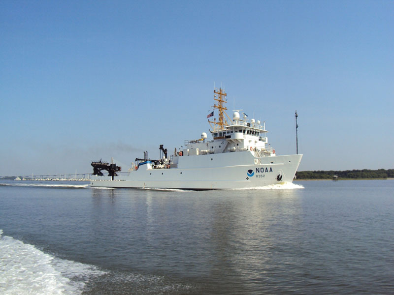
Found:
M 378 169 L 378 170 L 345 170 L 345 171 L 298 171 L 296 179 L 332 179 L 336 175 L 338 179 L 376 179 L 376 178 L 394 178 L 394 169 Z

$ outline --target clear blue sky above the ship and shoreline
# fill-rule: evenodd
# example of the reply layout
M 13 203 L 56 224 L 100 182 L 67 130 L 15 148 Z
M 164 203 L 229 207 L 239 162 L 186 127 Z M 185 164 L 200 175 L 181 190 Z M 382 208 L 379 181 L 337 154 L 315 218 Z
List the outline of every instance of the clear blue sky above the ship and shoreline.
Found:
M 214 83 L 299 170 L 394 168 L 393 1 L 1 1 L 0 175 L 207 132 Z

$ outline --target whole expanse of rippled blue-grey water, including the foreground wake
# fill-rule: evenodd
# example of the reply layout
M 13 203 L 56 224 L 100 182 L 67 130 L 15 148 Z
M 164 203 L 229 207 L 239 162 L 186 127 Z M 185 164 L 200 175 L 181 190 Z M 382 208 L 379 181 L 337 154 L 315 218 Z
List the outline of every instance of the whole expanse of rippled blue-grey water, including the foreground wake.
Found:
M 0 183 L 0 294 L 394 294 L 394 180 Z

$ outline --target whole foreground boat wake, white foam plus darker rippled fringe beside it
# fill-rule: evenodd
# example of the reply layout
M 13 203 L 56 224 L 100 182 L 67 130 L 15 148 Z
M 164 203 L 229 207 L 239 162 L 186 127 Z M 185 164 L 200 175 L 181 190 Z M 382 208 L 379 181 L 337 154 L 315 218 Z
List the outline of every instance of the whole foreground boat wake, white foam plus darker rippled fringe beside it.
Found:
M 194 285 L 161 275 L 103 271 L 60 259 L 0 230 L 1 295 L 189 294 Z

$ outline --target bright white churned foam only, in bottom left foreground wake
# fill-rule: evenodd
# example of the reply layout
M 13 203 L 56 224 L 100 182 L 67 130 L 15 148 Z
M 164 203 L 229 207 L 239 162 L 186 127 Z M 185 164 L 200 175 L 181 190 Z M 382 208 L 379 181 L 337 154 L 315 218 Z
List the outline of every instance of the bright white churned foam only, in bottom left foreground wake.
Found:
M 96 266 L 57 259 L 0 230 L 0 294 L 81 294 L 90 277 L 103 275 Z

